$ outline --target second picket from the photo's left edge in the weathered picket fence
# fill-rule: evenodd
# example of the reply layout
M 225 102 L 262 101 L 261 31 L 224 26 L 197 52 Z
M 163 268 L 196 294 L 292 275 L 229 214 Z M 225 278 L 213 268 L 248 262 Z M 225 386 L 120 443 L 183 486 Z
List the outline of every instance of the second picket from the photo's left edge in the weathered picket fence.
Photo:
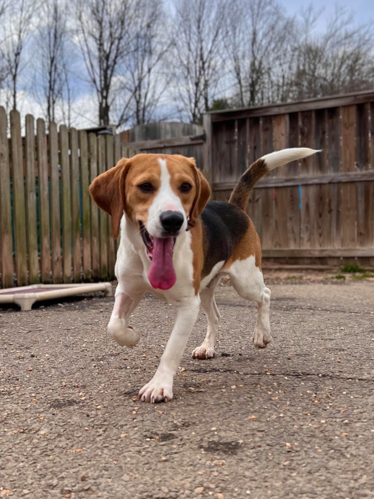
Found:
M 10 111 L 10 157 L 13 180 L 15 274 L 18 286 L 27 284 L 27 244 L 21 123 L 18 111 Z

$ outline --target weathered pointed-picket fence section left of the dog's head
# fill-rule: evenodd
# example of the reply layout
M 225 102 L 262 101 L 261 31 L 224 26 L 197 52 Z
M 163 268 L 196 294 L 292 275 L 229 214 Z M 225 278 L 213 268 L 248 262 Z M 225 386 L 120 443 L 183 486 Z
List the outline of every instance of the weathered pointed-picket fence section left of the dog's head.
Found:
M 9 134 L 10 133 L 10 138 Z M 68 130 L 31 115 L 9 123 L 0 107 L 1 287 L 106 280 L 113 277 L 116 241 L 109 216 L 88 186 L 133 151 L 118 137 Z

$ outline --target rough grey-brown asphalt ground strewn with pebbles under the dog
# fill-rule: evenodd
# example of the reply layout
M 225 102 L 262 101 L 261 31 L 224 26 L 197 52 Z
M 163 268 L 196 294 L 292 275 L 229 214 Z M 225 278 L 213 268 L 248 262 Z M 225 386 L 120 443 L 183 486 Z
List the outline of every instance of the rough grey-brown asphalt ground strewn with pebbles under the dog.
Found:
M 0 498 L 373 498 L 374 283 L 273 284 L 272 341 L 254 304 L 218 287 L 216 355 L 192 359 L 174 400 L 138 390 L 173 323 L 146 296 L 137 347 L 107 335 L 113 298 L 0 308 Z

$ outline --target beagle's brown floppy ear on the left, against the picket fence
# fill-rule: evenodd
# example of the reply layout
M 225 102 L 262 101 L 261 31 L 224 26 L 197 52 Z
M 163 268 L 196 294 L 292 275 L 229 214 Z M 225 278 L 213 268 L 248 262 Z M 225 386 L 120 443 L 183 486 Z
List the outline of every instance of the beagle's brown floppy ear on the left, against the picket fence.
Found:
M 119 160 L 116 166 L 101 173 L 90 185 L 90 194 L 95 203 L 112 218 L 112 232 L 116 238 L 125 209 L 125 179 L 128 168 L 126 158 Z

